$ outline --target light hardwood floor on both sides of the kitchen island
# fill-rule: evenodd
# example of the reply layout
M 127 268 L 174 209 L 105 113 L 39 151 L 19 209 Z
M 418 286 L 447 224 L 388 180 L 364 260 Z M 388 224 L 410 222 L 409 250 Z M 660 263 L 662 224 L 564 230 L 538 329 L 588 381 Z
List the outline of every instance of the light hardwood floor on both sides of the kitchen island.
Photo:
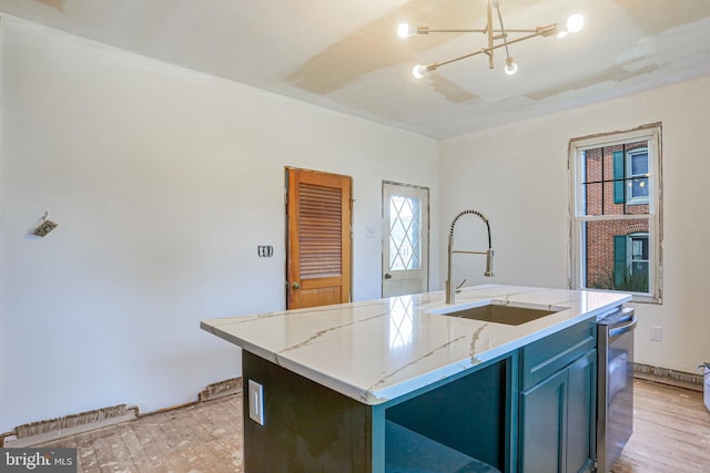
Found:
M 615 473 L 710 473 L 702 393 L 635 381 L 633 435 Z M 239 394 L 38 446 L 78 448 L 79 472 L 242 472 Z M 336 472 L 334 472 L 336 473 Z

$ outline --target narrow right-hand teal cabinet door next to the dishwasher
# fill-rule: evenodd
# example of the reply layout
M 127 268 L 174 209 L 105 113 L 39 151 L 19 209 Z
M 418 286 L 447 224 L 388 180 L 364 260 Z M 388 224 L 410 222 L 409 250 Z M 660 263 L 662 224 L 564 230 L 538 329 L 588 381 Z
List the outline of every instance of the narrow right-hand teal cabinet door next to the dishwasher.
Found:
M 594 422 L 597 351 L 590 351 L 567 368 L 567 472 L 590 472 L 594 467 Z

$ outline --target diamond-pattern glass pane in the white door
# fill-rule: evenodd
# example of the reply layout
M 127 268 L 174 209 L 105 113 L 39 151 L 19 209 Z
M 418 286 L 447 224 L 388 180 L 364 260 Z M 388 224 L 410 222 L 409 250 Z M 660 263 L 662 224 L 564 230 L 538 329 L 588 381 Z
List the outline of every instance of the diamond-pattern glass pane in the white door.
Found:
M 389 270 L 422 268 L 422 200 L 389 197 Z

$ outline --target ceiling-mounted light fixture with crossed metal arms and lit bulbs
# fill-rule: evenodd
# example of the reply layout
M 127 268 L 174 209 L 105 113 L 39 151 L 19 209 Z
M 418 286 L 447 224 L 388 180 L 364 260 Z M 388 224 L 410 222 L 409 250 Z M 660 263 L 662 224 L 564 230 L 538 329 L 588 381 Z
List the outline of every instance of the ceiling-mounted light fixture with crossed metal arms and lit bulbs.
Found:
M 415 34 L 429 34 L 429 33 L 484 33 L 488 39 L 488 45 L 474 51 L 468 54 L 454 58 L 448 61 L 433 62 L 427 65 L 415 65 L 412 70 L 412 75 L 416 79 L 422 79 L 427 72 L 432 72 L 440 68 L 442 65 L 450 64 L 452 62 L 460 61 L 462 59 L 471 58 L 478 54 L 486 54 L 488 56 L 488 69 L 494 69 L 494 52 L 497 49 L 504 48 L 506 51 L 506 74 L 513 75 L 518 72 L 518 64 L 513 60 L 508 47 L 520 41 L 529 40 L 535 37 L 550 37 L 557 34 L 557 38 L 565 38 L 567 33 L 576 33 L 582 29 L 585 24 L 585 18 L 579 14 L 572 14 L 567 20 L 567 29 L 558 30 L 557 23 L 550 23 L 545 27 L 536 27 L 534 29 L 506 29 L 503 24 L 503 14 L 500 13 L 500 3 L 503 0 L 488 0 L 486 4 L 486 27 L 478 30 L 466 29 L 432 29 L 429 27 L 413 28 L 407 23 L 402 23 L 397 27 L 397 35 L 399 38 L 408 38 Z M 494 11 L 498 17 L 498 28 L 494 25 Z M 510 33 L 523 34 L 518 38 L 510 38 Z

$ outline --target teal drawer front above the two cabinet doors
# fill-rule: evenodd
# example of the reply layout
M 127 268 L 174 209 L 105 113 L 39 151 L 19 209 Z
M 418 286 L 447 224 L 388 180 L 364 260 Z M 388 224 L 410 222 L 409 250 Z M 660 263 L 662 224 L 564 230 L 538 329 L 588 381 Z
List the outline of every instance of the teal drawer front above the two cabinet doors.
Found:
M 530 389 L 596 347 L 596 318 L 524 347 L 521 349 L 521 389 Z

